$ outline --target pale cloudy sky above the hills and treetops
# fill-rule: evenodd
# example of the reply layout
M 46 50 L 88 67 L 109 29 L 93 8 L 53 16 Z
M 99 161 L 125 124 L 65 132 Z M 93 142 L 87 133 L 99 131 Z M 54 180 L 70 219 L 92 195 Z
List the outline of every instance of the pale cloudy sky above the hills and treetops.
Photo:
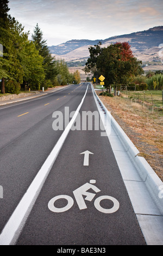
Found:
M 38 23 L 48 46 L 163 26 L 162 0 L 9 0 L 9 8 L 29 39 Z

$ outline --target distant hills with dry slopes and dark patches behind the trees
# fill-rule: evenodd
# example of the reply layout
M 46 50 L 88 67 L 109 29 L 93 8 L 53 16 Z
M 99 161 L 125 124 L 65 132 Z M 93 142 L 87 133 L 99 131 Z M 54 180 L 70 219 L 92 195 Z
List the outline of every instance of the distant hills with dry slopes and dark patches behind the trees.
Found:
M 134 56 L 142 60 L 145 71 L 163 70 L 163 58 L 159 56 L 161 50 L 159 45 L 163 44 L 163 26 L 153 27 L 147 31 L 112 36 L 105 40 L 71 40 L 64 44 L 50 46 L 49 50 L 52 56 L 67 62 L 70 72 L 76 71 L 78 67 L 82 80 L 85 80 L 86 76 L 83 74 L 81 66 L 84 66 L 89 58 L 89 46 L 98 44 L 99 41 L 102 42 L 102 47 L 107 47 L 115 42 L 127 41 L 131 45 Z

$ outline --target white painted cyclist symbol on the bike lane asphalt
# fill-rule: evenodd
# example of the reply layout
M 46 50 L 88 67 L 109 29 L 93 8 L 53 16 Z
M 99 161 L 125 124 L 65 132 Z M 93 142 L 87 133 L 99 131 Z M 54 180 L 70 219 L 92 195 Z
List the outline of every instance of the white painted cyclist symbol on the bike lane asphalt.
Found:
M 93 200 L 93 198 L 96 196 L 95 193 L 87 192 L 88 190 L 90 190 L 90 188 L 92 188 L 92 190 L 95 191 L 96 193 L 101 191 L 95 185 L 92 185 L 95 183 L 96 183 L 96 180 L 90 180 L 90 183 L 87 182 L 86 184 L 80 186 L 79 188 L 77 188 L 76 190 L 73 191 L 74 198 L 76 199 L 76 202 L 77 202 L 80 210 L 87 209 L 85 200 L 91 202 Z M 83 196 L 86 196 L 86 198 L 83 198 Z M 58 199 L 62 199 L 62 198 L 67 200 L 67 205 L 64 206 L 63 208 L 55 207 L 54 206 L 55 201 L 57 201 Z M 110 208 L 110 209 L 102 208 L 102 206 L 100 205 L 100 202 L 101 202 L 101 200 L 104 200 L 104 199 L 112 201 L 112 203 L 114 204 L 112 206 L 112 208 Z M 53 212 L 64 212 L 64 211 L 69 210 L 73 206 L 73 204 L 74 204 L 73 198 L 63 194 L 60 196 L 53 197 L 51 200 L 49 200 L 48 208 L 49 208 L 49 210 L 51 210 Z M 111 196 L 101 196 L 101 197 L 96 198 L 94 205 L 98 211 L 101 211 L 104 214 L 112 214 L 113 212 L 116 212 L 120 208 L 120 203 L 118 202 L 118 200 Z

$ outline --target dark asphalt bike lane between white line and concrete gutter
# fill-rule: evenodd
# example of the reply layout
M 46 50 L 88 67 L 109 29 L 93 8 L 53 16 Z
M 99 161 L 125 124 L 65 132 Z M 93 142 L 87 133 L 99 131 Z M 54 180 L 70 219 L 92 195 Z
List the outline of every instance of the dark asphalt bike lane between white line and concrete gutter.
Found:
M 97 111 L 91 86 L 80 117 L 83 111 Z M 87 150 L 92 153 L 88 157 Z M 57 196 L 61 199 L 55 200 Z M 101 130 L 70 131 L 16 244 L 145 245 L 114 153 Z

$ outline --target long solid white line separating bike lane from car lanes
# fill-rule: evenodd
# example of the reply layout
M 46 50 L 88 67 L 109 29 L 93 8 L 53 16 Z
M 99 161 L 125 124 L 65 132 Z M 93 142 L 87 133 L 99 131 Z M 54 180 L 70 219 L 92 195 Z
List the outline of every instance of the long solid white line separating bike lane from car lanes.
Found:
M 87 86 L 88 88 L 88 86 Z M 20 203 L 17 205 L 15 211 L 12 213 L 9 221 L 5 225 L 4 229 L 2 230 L 2 233 L 0 235 L 0 245 L 14 245 L 18 239 L 18 236 L 21 233 L 21 230 L 26 223 L 26 220 L 30 214 L 30 211 L 32 210 L 34 203 L 39 196 L 39 193 L 41 191 L 41 188 L 55 162 L 57 159 L 57 156 L 59 154 L 59 151 L 62 148 L 62 145 L 65 142 L 65 139 L 74 123 L 74 121 L 77 118 L 77 115 L 79 113 L 80 108 L 82 107 L 83 101 L 85 99 L 86 92 L 84 94 L 84 97 L 82 101 L 80 102 L 76 112 L 74 113 L 70 123 L 66 126 L 66 129 L 62 133 L 61 137 L 59 138 L 57 144 L 53 148 L 51 154 L 47 157 L 45 163 L 43 163 L 43 166 L 35 176 L 32 184 L 30 184 L 27 192 L 22 197 Z

